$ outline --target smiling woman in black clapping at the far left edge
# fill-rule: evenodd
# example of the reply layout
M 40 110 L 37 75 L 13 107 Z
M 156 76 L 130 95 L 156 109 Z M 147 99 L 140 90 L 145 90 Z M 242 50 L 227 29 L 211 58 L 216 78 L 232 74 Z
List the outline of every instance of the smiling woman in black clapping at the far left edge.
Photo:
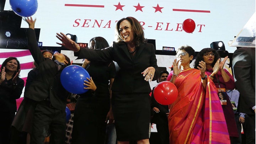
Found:
M 20 62 L 9 57 L 1 65 L 0 72 L 0 144 L 9 143 L 11 123 L 17 111 L 16 99 L 20 98 L 24 80 L 19 78 Z

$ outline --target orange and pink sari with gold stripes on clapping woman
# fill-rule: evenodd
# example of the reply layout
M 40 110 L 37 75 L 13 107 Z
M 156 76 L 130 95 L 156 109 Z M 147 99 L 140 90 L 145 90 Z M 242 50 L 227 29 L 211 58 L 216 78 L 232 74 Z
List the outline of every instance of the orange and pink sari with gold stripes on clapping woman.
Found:
M 170 144 L 230 144 L 215 85 L 207 78 L 203 89 L 200 70 L 181 71 L 175 80 L 178 98 L 170 106 Z

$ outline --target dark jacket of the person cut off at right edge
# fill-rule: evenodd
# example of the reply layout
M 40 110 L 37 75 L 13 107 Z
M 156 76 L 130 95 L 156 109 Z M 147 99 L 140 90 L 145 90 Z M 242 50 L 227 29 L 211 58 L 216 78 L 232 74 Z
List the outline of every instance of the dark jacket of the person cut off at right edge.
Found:
M 255 114 L 255 48 L 239 48 L 233 54 L 235 85 L 240 92 L 238 111 Z

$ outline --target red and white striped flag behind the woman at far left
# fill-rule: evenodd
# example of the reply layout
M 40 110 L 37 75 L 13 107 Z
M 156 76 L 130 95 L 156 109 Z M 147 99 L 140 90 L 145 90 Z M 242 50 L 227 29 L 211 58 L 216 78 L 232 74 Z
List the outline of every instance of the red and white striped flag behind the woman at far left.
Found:
M 0 67 L 4 60 L 8 57 L 16 57 L 21 65 L 20 78 L 22 78 L 26 85 L 27 74 L 32 70 L 34 59 L 29 50 L 24 49 L 0 49 Z M 24 87 L 25 89 L 25 87 Z M 23 100 L 24 89 L 21 94 L 21 98 L 17 99 L 17 108 L 20 106 L 21 101 Z

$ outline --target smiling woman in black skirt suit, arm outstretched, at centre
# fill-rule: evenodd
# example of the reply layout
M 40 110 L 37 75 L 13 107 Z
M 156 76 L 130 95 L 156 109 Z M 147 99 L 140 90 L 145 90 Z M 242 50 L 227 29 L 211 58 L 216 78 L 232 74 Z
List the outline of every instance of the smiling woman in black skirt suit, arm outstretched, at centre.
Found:
M 143 28 L 134 17 L 122 18 L 116 25 L 116 42 L 102 50 L 80 48 L 78 44 L 57 33 L 58 43 L 70 50 L 78 59 L 114 60 L 119 65 L 112 86 L 112 110 L 117 140 L 126 144 L 149 144 L 150 96 L 148 81 L 155 75 L 157 60 L 153 44 L 146 43 Z M 157 74 L 157 73 L 156 73 Z

